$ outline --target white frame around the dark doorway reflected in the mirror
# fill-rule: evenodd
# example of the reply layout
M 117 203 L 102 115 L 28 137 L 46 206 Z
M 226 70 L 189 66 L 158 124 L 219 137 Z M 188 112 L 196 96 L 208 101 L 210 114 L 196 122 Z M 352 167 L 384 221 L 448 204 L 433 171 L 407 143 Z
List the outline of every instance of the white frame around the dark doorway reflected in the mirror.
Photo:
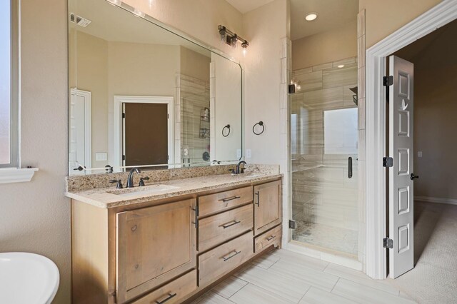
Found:
M 122 161 L 123 137 L 122 104 L 123 103 L 165 103 L 168 118 L 168 151 L 169 165 L 174 163 L 174 97 L 173 96 L 114 96 L 114 171 L 119 172 L 124 166 Z M 169 166 L 170 168 L 170 166 Z

